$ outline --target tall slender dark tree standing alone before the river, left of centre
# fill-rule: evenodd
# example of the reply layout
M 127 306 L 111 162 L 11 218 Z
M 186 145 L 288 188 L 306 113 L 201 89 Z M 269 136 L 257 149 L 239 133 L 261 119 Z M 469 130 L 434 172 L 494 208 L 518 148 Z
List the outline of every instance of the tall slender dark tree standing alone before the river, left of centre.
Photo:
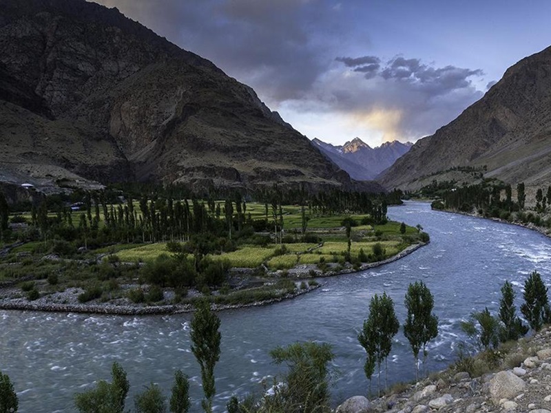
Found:
M 202 390 L 205 399 L 201 402 L 203 410 L 212 412 L 212 399 L 216 393 L 214 385 L 214 366 L 220 359 L 220 319 L 211 311 L 209 301 L 198 301 L 193 319 L 191 319 L 191 352 L 194 353 L 201 368 Z

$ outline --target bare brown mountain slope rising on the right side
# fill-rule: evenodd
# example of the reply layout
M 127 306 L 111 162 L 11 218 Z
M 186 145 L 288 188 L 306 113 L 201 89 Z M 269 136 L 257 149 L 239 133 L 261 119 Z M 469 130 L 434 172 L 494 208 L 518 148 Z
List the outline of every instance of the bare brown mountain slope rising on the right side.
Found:
M 551 47 L 522 59 L 459 117 L 385 171 L 388 189 L 484 174 L 529 187 L 551 184 Z

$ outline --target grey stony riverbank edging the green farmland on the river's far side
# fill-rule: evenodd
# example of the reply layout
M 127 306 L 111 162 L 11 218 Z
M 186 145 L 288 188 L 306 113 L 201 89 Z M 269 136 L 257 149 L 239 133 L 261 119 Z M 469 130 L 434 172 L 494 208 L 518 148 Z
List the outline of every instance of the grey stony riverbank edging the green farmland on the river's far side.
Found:
M 410 245 L 399 253 L 393 255 L 392 257 L 386 258 L 386 260 L 371 262 L 362 264 L 359 268 L 354 269 L 352 266 L 350 268 L 342 268 L 339 271 L 326 271 L 323 273 L 320 270 L 315 270 L 316 266 L 311 265 L 302 265 L 295 266 L 287 272 L 287 277 L 295 279 L 312 279 L 318 277 L 334 277 L 337 275 L 357 273 L 360 271 L 366 271 L 370 268 L 375 268 L 377 266 L 382 266 L 399 260 L 402 257 L 406 257 L 410 253 L 417 251 L 418 248 L 421 248 L 426 244 L 414 244 Z M 315 274 L 315 276 L 313 276 Z M 275 276 L 281 277 L 281 274 L 274 273 Z M 277 279 L 277 278 L 276 278 Z M 14 288 L 9 290 L 10 286 L 4 286 L 0 288 L 3 290 L 3 297 L 0 298 L 0 310 L 23 310 L 23 311 L 43 311 L 43 312 L 55 312 L 55 313 L 89 313 L 89 314 L 99 314 L 99 315 L 167 315 L 167 314 L 178 314 L 178 313 L 191 313 L 194 311 L 194 304 L 192 302 L 187 302 L 185 304 L 170 304 L 170 305 L 143 305 L 143 304 L 134 304 L 128 299 L 118 299 L 118 304 L 112 304 L 110 302 L 98 303 L 89 302 L 89 303 L 79 303 L 78 297 L 83 293 L 81 288 L 67 288 L 67 290 L 61 291 L 59 293 L 54 293 L 52 295 L 46 295 L 36 299 L 34 301 L 29 301 L 23 297 L 19 297 L 18 293 Z M 216 311 L 222 310 L 233 310 L 237 308 L 249 308 L 257 306 L 266 306 L 269 304 L 275 304 L 281 301 L 293 299 L 300 297 L 306 293 L 309 293 L 320 287 L 320 284 L 315 283 L 306 283 L 302 281 L 300 285 L 295 285 L 293 293 L 284 293 L 278 297 L 272 297 L 269 299 L 261 299 L 258 301 L 251 301 L 242 304 L 217 304 L 214 302 L 212 308 Z M 171 291 L 165 290 L 164 295 L 169 295 Z M 7 295 L 7 297 L 6 297 Z M 194 294 L 194 298 L 198 299 L 200 297 L 199 293 Z M 215 296 L 216 297 L 216 296 Z

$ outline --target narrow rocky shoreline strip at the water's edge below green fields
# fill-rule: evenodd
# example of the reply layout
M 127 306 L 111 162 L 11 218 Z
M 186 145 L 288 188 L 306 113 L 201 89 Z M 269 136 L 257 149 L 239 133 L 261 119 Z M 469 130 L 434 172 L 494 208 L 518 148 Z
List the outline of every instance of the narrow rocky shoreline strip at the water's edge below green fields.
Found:
M 399 260 L 400 258 L 417 251 L 426 244 L 414 244 L 410 245 L 404 250 L 400 251 L 392 257 L 388 257 L 386 260 L 371 262 L 368 264 L 363 264 L 359 269 L 355 270 L 354 268 L 344 268 L 340 271 L 328 271 L 327 273 L 322 273 L 321 271 L 316 271 L 315 277 L 333 277 L 336 275 L 357 273 L 360 271 L 365 271 L 370 268 L 375 268 L 377 266 L 382 266 L 390 262 Z M 297 279 L 302 278 L 313 278 L 311 275 L 311 270 L 315 266 L 297 266 L 289 270 L 289 276 Z M 266 306 L 269 304 L 275 304 L 280 301 L 287 299 L 293 299 L 304 295 L 306 293 L 319 288 L 320 285 L 307 286 L 306 288 L 298 288 L 295 293 L 283 295 L 282 297 L 267 299 L 262 301 L 254 301 L 247 304 L 212 304 L 212 308 L 216 311 L 222 310 L 233 310 L 238 308 L 249 308 L 257 306 Z M 81 290 L 73 292 L 74 297 L 81 293 Z M 63 293 L 61 293 L 63 294 Z M 73 298 L 74 298 L 73 297 Z M 55 313 L 88 313 L 88 314 L 99 314 L 99 315 L 167 315 L 167 314 L 178 314 L 178 313 L 192 313 L 194 307 L 192 304 L 171 304 L 163 306 L 143 306 L 132 303 L 124 304 L 77 304 L 77 303 L 66 303 L 66 302 L 52 302 L 43 297 L 37 301 L 28 301 L 24 298 L 10 298 L 5 297 L 0 299 L 0 310 L 23 310 L 23 311 L 44 311 L 44 312 L 55 312 Z M 67 300 L 67 297 L 61 297 L 62 301 Z

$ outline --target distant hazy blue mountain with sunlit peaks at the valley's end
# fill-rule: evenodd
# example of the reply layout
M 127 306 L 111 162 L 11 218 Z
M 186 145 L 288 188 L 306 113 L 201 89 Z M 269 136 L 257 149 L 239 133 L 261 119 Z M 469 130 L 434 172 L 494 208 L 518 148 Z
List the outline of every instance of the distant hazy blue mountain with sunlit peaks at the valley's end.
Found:
M 375 179 L 413 145 L 394 140 L 371 148 L 360 138 L 354 138 L 342 146 L 334 146 L 318 138 L 314 138 L 312 143 L 355 180 Z

